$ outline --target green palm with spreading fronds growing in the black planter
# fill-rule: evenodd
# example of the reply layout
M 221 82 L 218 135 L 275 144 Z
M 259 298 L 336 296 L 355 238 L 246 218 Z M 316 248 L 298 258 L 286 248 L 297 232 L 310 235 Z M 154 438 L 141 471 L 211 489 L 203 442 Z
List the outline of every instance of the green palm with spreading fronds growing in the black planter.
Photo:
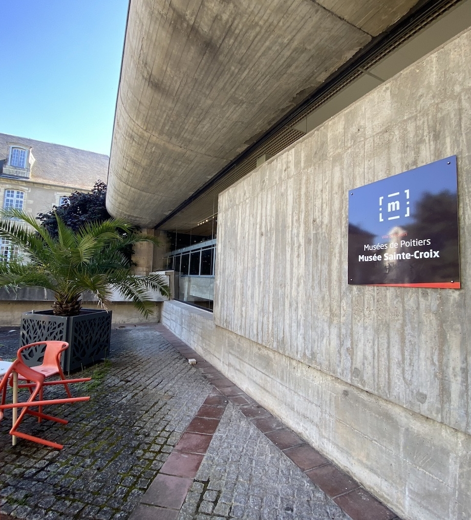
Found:
M 23 255 L 0 262 L 0 287 L 49 289 L 55 296 L 53 313 L 57 316 L 78 315 L 84 291 L 93 293 L 106 308 L 113 288 L 117 289 L 145 317 L 153 311 L 149 290 L 168 295 L 161 276 L 134 276 L 122 253 L 123 246 L 137 242 L 158 245 L 154 237 L 136 232 L 120 218 L 89 223 L 76 232 L 56 218 L 58 235 L 53 237 L 23 211 L 10 208 L 0 212 L 0 237 Z

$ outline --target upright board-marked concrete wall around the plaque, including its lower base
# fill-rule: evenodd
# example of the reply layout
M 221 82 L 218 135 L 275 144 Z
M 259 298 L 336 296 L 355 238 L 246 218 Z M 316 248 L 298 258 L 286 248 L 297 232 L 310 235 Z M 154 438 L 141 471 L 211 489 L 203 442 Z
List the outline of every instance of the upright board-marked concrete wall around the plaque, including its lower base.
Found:
M 162 320 L 399 515 L 471 518 L 471 31 L 219 197 L 214 322 Z M 348 190 L 457 156 L 461 290 L 347 284 Z

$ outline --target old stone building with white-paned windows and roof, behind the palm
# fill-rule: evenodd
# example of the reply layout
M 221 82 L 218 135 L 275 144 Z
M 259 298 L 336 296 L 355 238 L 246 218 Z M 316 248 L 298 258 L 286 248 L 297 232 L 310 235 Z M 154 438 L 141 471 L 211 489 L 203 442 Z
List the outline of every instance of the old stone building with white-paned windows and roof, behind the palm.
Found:
M 106 181 L 108 156 L 24 137 L 0 134 L 0 201 L 36 216 L 60 205 L 74 190 Z M 0 256 L 12 254 L 1 239 Z

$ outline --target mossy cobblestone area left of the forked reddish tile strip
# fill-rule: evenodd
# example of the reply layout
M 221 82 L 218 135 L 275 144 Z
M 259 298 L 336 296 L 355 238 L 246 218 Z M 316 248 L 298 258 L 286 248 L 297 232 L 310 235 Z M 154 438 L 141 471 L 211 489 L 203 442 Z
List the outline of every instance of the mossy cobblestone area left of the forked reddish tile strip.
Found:
M 3 359 L 15 356 L 18 339 L 11 343 L 0 348 Z M 90 400 L 55 407 L 69 424 L 24 423 L 25 431 L 64 444 L 62 450 L 23 439 L 11 446 L 5 414 L 1 513 L 24 520 L 125 519 L 159 472 L 211 385 L 154 330 L 115 329 L 111 345 L 108 361 L 82 372 L 93 380 L 73 389 Z

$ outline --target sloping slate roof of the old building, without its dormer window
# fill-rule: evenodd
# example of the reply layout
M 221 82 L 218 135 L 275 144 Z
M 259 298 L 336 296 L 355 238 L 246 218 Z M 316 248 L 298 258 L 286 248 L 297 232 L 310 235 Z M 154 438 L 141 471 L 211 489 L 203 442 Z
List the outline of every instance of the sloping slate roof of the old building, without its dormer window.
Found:
M 32 147 L 35 162 L 29 179 L 31 181 L 77 189 L 91 189 L 97 180 L 107 181 L 108 155 L 0 134 L 0 161 L 8 158 L 7 143 Z

